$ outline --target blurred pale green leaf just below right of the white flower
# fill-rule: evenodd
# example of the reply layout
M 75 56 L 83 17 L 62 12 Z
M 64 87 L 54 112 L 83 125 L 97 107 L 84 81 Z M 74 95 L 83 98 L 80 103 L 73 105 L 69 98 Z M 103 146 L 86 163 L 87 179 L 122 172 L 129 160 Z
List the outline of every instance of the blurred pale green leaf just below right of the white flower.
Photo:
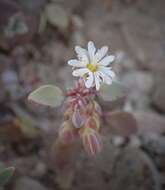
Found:
M 101 85 L 99 95 L 105 101 L 114 101 L 126 95 L 126 88 L 121 83 L 113 81 L 111 85 Z

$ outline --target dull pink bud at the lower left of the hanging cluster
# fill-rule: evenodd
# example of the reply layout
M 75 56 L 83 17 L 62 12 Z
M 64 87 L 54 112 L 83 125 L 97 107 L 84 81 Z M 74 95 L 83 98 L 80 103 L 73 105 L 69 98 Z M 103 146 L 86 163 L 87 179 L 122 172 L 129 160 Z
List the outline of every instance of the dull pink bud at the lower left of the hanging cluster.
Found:
M 59 129 L 59 137 L 64 143 L 70 143 L 76 139 L 78 133 L 69 121 L 64 121 Z

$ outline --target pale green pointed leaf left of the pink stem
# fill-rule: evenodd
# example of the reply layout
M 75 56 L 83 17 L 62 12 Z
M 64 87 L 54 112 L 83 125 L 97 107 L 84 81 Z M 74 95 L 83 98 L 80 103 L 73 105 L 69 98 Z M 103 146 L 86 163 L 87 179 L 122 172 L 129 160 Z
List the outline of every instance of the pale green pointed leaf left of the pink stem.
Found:
M 44 85 L 33 91 L 28 99 L 38 104 L 57 107 L 61 105 L 64 96 L 60 88 L 57 86 Z

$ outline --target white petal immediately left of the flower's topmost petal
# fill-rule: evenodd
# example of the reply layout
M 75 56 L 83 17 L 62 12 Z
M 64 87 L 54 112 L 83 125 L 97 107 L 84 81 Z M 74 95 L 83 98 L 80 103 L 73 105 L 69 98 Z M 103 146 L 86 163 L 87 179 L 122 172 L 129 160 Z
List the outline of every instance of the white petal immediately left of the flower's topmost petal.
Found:
M 81 62 L 84 62 L 85 65 L 89 63 L 88 52 L 86 49 L 84 49 L 80 46 L 76 46 L 75 51 Z

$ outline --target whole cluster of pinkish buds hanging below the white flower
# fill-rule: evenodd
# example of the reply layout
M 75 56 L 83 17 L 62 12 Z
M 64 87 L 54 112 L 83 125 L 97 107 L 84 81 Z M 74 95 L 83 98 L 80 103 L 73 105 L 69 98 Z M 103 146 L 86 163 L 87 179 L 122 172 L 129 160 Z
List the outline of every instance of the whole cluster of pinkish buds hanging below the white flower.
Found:
M 94 100 L 95 95 L 95 89 L 86 88 L 84 80 L 79 79 L 66 94 L 64 120 L 59 129 L 59 137 L 64 143 L 80 138 L 90 155 L 95 155 L 102 148 L 99 134 L 101 108 Z

